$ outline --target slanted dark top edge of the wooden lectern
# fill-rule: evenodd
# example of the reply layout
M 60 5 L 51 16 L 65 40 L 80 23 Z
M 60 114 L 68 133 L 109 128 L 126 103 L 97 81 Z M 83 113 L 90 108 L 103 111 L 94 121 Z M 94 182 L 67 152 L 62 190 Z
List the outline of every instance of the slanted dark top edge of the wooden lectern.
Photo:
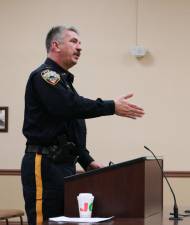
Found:
M 78 179 L 78 178 L 81 178 L 81 177 L 90 176 L 92 174 L 102 173 L 102 172 L 105 172 L 105 171 L 110 170 L 110 169 L 115 169 L 115 168 L 119 168 L 119 167 L 123 167 L 123 166 L 133 165 L 133 164 L 136 164 L 136 163 L 139 163 L 139 162 L 143 162 L 145 160 L 147 160 L 147 157 L 140 157 L 140 158 L 132 159 L 132 160 L 125 161 L 125 162 L 112 164 L 110 166 L 107 166 L 107 167 L 104 167 L 104 168 L 101 168 L 101 169 L 95 169 L 95 170 L 91 170 L 91 171 L 88 171 L 88 172 L 85 172 L 85 173 L 65 177 L 64 180 L 70 181 L 70 180 Z

